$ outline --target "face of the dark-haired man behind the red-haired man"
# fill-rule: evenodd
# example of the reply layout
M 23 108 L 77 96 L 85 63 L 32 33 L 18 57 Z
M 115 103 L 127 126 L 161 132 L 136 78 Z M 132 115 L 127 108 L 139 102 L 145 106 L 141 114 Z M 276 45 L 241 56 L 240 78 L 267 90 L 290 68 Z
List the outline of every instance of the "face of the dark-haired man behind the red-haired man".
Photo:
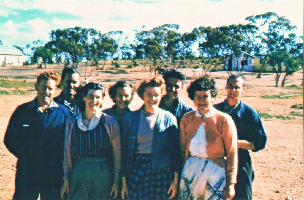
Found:
M 64 93 L 65 100 L 69 101 L 74 99 L 76 94 L 76 88 L 80 86 L 80 76 L 78 73 L 67 73 L 62 80 L 62 91 Z

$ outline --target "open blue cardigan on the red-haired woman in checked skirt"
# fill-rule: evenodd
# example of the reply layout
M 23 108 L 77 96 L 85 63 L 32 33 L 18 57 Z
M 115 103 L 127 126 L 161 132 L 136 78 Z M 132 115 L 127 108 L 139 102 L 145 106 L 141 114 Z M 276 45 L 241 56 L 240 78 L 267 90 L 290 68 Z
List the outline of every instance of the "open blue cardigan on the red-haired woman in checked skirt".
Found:
M 122 176 L 126 176 L 126 173 L 132 168 L 140 112 L 141 109 L 130 112 L 123 121 Z M 170 112 L 159 109 L 152 141 L 152 169 L 180 171 L 181 155 L 178 135 L 176 118 Z

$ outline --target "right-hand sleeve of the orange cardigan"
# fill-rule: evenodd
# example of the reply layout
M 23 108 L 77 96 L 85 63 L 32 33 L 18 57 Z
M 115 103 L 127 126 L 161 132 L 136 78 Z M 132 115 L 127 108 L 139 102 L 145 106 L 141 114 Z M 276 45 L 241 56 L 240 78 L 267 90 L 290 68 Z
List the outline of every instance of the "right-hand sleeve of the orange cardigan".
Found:
M 223 122 L 223 140 L 226 151 L 227 183 L 237 183 L 237 128 L 230 116 Z

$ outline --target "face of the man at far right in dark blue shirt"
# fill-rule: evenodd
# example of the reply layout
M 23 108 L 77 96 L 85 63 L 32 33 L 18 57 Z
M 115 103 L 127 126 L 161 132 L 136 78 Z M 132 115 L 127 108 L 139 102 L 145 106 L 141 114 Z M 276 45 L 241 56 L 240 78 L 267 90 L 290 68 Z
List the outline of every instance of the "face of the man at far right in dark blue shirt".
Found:
M 227 101 L 230 106 L 234 106 L 241 100 L 242 93 L 244 93 L 244 80 L 241 77 L 231 79 L 226 87 Z

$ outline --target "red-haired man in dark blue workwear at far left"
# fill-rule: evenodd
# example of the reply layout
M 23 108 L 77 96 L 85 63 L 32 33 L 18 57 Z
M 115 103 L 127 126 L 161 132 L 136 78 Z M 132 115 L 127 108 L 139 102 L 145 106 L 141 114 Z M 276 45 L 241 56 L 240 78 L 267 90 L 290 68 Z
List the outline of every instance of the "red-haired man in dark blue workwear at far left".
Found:
M 69 111 L 52 99 L 60 76 L 37 77 L 37 97 L 16 108 L 5 132 L 6 148 L 18 158 L 13 199 L 60 199 L 64 124 Z

